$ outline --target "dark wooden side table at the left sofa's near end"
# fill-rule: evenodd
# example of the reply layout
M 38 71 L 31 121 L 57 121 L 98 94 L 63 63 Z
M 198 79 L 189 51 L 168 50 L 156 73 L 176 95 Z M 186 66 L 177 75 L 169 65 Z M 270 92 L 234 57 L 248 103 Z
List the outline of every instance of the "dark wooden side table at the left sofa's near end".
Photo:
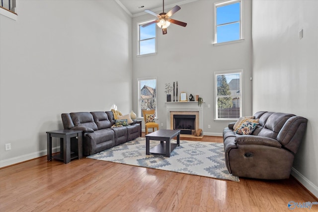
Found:
M 64 163 L 71 162 L 73 158 L 82 158 L 82 131 L 80 130 L 56 130 L 48 131 L 48 160 L 52 160 L 52 137 L 60 138 L 60 154 L 53 155 L 54 159 L 63 160 Z M 78 137 L 78 152 L 71 153 L 71 138 Z

